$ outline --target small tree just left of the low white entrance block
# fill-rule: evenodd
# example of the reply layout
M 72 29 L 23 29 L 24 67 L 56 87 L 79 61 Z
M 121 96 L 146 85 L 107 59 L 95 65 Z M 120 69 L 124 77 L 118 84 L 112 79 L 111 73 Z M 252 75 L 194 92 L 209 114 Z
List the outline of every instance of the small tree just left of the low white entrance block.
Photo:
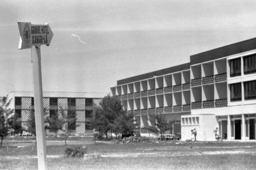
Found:
M 163 140 L 163 133 L 165 133 L 166 130 L 172 131 L 172 125 L 174 122 L 174 120 L 167 122 L 165 115 L 158 113 L 151 118 L 152 125 L 148 127 L 148 130 L 160 135 L 161 140 Z

